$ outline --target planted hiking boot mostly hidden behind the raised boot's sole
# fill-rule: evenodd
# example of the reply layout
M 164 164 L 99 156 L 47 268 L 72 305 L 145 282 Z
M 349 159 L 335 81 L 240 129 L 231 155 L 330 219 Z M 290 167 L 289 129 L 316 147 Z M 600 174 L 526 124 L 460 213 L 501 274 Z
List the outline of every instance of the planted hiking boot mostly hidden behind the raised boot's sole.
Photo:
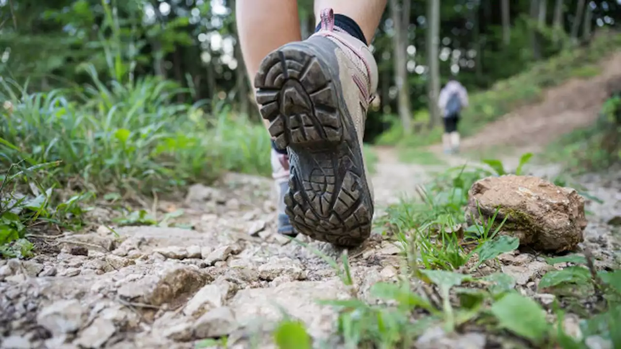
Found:
M 297 234 L 293 232 L 293 227 L 289 222 L 289 216 L 285 213 L 284 206 L 284 196 L 289 190 L 289 157 L 286 154 L 279 154 L 272 149 L 271 165 L 276 209 L 278 210 L 278 233 L 296 237 Z

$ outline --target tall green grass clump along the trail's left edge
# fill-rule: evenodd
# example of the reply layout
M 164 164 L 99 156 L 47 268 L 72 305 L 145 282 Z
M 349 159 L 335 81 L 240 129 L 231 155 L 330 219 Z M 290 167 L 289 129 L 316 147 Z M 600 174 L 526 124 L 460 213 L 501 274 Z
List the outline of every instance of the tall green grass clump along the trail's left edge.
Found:
M 211 181 L 222 171 L 269 174 L 263 125 L 226 106 L 215 105 L 207 115 L 206 101 L 179 102 L 192 91 L 178 83 L 137 78 L 135 45 L 121 37 L 112 5 L 102 6 L 99 43 L 106 68 L 79 66 L 89 84 L 31 93 L 27 83 L 0 78 L 2 168 L 22 160 L 27 167 L 57 162 L 39 179 L 43 186 L 71 183 L 140 193 Z

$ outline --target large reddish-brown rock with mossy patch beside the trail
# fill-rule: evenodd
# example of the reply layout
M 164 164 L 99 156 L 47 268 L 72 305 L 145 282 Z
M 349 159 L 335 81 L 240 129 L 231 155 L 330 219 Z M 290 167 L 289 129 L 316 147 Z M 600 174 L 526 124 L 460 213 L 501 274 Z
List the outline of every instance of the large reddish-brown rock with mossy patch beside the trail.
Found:
M 533 176 L 507 175 L 476 181 L 469 191 L 466 219 L 473 224 L 496 214 L 507 217 L 502 229 L 535 250 L 574 250 L 584 240 L 584 199 L 574 189 L 562 188 Z M 479 211 L 481 215 L 479 215 Z

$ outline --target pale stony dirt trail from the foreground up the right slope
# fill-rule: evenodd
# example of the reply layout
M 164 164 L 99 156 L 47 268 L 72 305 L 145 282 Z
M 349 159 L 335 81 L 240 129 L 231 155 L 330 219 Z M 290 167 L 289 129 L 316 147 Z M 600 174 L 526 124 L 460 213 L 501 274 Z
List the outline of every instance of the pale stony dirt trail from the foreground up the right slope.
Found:
M 618 72 L 621 54 L 614 59 Z M 606 71 L 612 74 L 614 69 Z M 554 127 L 523 122 L 526 118 L 532 121 L 529 111 L 536 110 L 525 107 L 465 140 L 465 147 L 508 140 L 528 145 L 546 132 L 560 131 L 567 125 L 561 120 L 576 113 L 582 114 L 571 125 L 592 120 L 590 114 L 602 98 L 594 92 L 597 81 L 601 79 L 558 88 L 592 94 L 589 103 L 594 103 L 586 105 L 576 101 L 580 98 L 569 98 L 558 114 L 561 116 L 552 114 L 551 105 L 566 100 L 566 94 L 548 92 L 539 108 L 549 111 L 548 121 L 558 120 Z M 502 133 L 491 132 L 494 127 L 515 133 L 488 137 Z M 521 141 L 529 127 L 540 133 L 534 140 L 527 137 Z M 373 176 L 378 212 L 401 194 L 414 195 L 417 184 L 438 170 L 399 163 L 392 150 L 380 149 L 378 155 L 378 171 Z M 466 161 L 460 157 L 446 160 L 450 165 Z M 621 201 L 619 174 L 583 183 L 606 202 Z M 604 188 L 606 183 L 608 188 Z M 101 225 L 91 232 L 49 237 L 49 250 L 57 253 L 29 261 L 0 261 L 0 348 L 194 348 L 199 338 L 222 335 L 229 335 L 229 343 L 235 343 L 230 348 L 248 348 L 255 338 L 252 333 L 270 330 L 273 321 L 281 318 L 278 306 L 304 321 L 314 337 L 330 338 L 335 314 L 315 300 L 347 299 L 351 289 L 343 286 L 319 256 L 274 234 L 270 191 L 269 179 L 230 174 L 212 188 L 193 186 L 184 202 L 158 202 L 160 217 L 183 209 L 184 215 L 175 222 L 193 229 L 120 227 L 112 232 Z M 600 250 L 605 253 L 610 242 L 602 240 L 602 234 L 610 228 L 604 222 L 621 207 L 592 204 L 589 209 L 596 211 L 596 216 L 587 228 L 587 241 L 604 246 Z M 100 207 L 97 214 L 112 215 L 114 210 Z M 310 245 L 333 257 L 341 252 L 325 243 Z M 349 251 L 361 298 L 368 299 L 374 283 L 396 279 L 401 263 L 398 252 L 381 235 L 373 235 L 363 246 Z M 527 268 L 536 259 L 533 255 L 522 258 Z M 483 335 L 471 333 L 469 338 L 472 335 L 485 342 Z M 271 347 L 263 342 L 270 336 L 256 338 L 258 348 Z M 452 340 L 458 343 L 459 338 Z M 327 347 L 338 345 L 327 343 Z M 427 343 L 427 347 L 438 346 Z

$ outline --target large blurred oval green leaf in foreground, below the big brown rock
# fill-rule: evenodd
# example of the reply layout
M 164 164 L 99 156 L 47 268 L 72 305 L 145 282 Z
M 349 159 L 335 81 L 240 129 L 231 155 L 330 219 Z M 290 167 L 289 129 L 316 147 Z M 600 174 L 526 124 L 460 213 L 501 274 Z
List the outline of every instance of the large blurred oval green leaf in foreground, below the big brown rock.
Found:
M 535 343 L 542 342 L 550 326 L 537 302 L 515 292 L 492 304 L 491 312 L 501 327 Z

